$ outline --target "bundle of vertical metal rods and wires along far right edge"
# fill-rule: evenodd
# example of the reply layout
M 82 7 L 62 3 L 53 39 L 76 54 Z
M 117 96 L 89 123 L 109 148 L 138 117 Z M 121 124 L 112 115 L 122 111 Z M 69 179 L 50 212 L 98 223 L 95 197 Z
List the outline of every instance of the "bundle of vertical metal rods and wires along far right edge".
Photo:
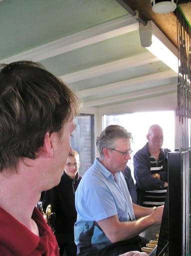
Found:
M 177 37 L 179 77 L 177 86 L 177 115 L 179 116 L 180 150 L 188 150 L 181 155 L 182 165 L 178 183 L 181 189 L 179 214 L 182 215 L 180 233 L 182 233 L 182 254 L 191 252 L 191 28 L 188 26 L 181 11 L 177 9 Z M 173 179 L 173 176 L 171 176 Z M 169 179 L 170 180 L 170 179 Z M 171 180 L 172 182 L 172 180 Z M 180 215 L 179 215 L 180 217 Z M 171 222 L 171 221 L 170 221 Z M 171 256 L 171 255 L 170 255 Z

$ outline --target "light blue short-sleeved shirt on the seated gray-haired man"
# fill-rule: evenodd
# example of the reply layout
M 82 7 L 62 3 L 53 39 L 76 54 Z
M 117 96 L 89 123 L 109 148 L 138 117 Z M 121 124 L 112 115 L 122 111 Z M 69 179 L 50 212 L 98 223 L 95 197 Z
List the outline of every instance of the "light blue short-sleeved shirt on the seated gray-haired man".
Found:
M 131 196 L 121 171 L 116 173 L 115 179 L 99 157 L 83 175 L 75 192 L 74 236 L 78 250 L 86 246 L 99 250 L 111 244 L 97 221 L 114 215 L 118 215 L 121 222 L 135 220 Z

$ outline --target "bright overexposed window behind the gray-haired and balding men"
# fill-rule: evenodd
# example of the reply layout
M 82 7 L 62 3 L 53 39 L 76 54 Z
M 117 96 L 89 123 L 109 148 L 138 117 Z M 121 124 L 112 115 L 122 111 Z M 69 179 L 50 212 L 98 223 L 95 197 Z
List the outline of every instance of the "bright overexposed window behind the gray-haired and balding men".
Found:
M 103 117 L 104 127 L 110 124 L 119 124 L 124 126 L 133 135 L 131 143 L 132 159 L 128 161 L 133 174 L 133 155 L 147 143 L 146 134 L 149 127 L 157 123 L 163 128 L 164 142 L 163 147 L 168 147 L 172 151 L 175 149 L 175 112 L 174 111 L 156 111 L 156 112 L 136 112 L 126 114 L 105 114 Z

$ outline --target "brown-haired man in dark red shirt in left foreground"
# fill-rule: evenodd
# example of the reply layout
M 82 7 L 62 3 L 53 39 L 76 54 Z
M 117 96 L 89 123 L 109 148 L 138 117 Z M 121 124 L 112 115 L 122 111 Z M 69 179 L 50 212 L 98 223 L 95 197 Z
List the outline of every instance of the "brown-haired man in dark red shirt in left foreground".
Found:
M 60 182 L 79 109 L 76 95 L 42 65 L 0 65 L 0 255 L 59 255 L 35 205 Z

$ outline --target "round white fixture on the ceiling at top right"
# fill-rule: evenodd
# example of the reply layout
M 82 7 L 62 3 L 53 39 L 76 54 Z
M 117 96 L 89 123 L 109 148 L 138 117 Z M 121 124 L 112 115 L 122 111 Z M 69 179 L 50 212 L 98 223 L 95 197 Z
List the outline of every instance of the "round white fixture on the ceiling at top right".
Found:
M 177 0 L 151 0 L 152 9 L 156 13 L 167 13 L 177 8 Z

